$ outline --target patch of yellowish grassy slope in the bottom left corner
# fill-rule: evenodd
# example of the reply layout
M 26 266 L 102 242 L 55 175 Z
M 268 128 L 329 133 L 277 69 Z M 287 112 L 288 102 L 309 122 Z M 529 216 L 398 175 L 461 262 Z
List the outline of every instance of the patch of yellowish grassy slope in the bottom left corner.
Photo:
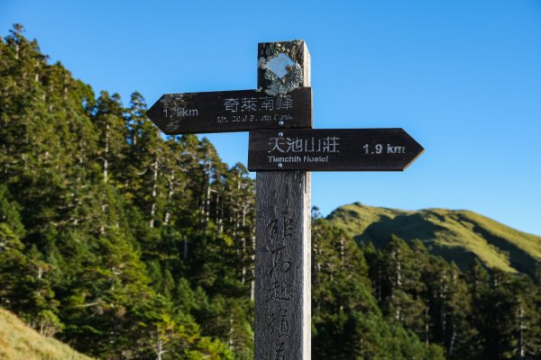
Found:
M 0 359 L 92 360 L 54 338 L 42 337 L 3 309 L 0 309 Z

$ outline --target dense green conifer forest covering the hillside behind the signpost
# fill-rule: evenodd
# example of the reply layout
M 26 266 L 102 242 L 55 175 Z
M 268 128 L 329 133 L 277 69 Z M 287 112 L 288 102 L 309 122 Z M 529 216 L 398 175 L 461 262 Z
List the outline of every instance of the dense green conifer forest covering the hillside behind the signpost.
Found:
M 254 180 L 134 92 L 0 40 L 0 307 L 99 359 L 252 359 Z M 541 359 L 541 266 L 461 269 L 314 208 L 314 359 Z

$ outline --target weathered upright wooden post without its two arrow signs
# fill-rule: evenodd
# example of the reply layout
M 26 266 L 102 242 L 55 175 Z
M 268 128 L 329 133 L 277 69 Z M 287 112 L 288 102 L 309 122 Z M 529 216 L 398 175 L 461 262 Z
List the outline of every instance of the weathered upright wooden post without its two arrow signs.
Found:
M 258 90 L 280 98 L 309 85 L 304 41 L 259 44 Z M 310 173 L 260 171 L 256 179 L 255 359 L 309 360 Z

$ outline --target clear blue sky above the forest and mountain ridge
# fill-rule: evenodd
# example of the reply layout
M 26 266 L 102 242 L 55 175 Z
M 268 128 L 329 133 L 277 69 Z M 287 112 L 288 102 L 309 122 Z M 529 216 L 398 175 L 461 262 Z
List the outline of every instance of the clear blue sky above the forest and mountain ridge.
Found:
M 257 43 L 303 39 L 316 128 L 402 127 L 425 148 L 404 173 L 313 173 L 327 214 L 363 202 L 467 209 L 541 235 L 541 2 L 0 1 L 52 61 L 96 92 L 256 86 Z M 211 135 L 230 165 L 246 133 Z

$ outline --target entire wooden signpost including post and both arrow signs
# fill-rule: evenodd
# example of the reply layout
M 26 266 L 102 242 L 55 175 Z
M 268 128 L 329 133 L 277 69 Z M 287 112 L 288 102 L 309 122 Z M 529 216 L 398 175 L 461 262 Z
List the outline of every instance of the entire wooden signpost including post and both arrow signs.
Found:
M 311 129 L 309 86 L 304 41 L 260 43 L 257 90 L 164 94 L 147 112 L 169 135 L 250 130 L 257 360 L 311 358 L 308 171 L 402 171 L 424 151 L 402 129 Z

